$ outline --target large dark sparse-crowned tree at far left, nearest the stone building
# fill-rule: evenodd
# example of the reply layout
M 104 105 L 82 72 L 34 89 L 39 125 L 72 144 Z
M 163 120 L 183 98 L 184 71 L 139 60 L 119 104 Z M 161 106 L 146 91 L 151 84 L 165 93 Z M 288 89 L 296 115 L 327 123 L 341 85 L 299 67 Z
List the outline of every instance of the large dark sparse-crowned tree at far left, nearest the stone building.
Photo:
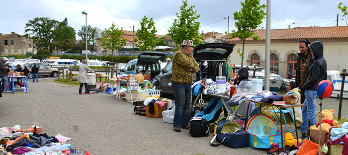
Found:
M 25 24 L 25 36 L 33 35 L 31 38 L 34 40 L 34 48 L 38 50 L 47 50 L 54 38 L 53 31 L 58 23 L 59 21 L 51 19 L 50 17 L 36 17 Z

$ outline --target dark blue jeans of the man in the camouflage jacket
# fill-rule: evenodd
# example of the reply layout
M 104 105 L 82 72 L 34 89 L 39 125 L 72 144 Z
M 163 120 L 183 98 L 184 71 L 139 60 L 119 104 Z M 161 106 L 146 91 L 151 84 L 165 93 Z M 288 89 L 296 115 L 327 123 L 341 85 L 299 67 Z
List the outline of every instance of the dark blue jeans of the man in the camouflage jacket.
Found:
M 190 106 L 192 100 L 191 85 L 172 83 L 175 99 L 175 113 L 173 126 L 188 125 Z

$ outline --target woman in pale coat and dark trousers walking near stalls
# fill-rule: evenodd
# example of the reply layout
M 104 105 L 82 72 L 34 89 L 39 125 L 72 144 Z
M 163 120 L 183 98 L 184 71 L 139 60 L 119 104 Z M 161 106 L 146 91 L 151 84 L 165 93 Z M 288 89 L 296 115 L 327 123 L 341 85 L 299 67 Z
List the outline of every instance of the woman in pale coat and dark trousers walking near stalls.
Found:
M 84 94 L 82 93 L 82 87 L 84 86 L 84 84 L 85 84 L 87 94 L 91 94 L 91 92 L 89 92 L 88 85 L 87 85 L 87 83 L 89 82 L 89 79 L 87 78 L 88 71 L 95 73 L 87 66 L 87 60 L 82 60 L 82 65 L 80 66 L 80 71 L 78 76 L 78 81 L 80 83 L 80 89 L 79 89 L 80 95 Z

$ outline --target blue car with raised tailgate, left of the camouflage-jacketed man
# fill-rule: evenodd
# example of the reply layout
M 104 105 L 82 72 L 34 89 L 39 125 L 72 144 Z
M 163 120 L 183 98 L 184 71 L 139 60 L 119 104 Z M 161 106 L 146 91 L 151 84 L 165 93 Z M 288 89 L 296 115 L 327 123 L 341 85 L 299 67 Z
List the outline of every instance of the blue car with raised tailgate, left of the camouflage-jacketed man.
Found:
M 139 72 L 150 72 L 150 77 L 155 78 L 161 73 L 160 61 L 165 61 L 166 54 L 162 52 L 143 52 L 138 55 L 138 59 L 129 61 L 123 70 L 122 74 L 138 74 Z M 121 83 L 123 84 L 123 83 Z

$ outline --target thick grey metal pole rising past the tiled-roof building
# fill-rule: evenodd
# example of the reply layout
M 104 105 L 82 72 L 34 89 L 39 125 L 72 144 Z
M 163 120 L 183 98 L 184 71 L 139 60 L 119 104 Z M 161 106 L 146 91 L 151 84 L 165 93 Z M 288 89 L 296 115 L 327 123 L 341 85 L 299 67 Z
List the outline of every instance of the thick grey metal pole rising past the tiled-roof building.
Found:
M 270 67 L 270 0 L 266 6 L 266 48 L 264 55 L 264 90 L 269 90 L 269 67 Z

